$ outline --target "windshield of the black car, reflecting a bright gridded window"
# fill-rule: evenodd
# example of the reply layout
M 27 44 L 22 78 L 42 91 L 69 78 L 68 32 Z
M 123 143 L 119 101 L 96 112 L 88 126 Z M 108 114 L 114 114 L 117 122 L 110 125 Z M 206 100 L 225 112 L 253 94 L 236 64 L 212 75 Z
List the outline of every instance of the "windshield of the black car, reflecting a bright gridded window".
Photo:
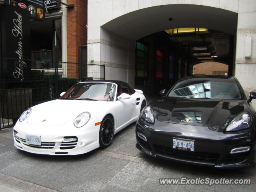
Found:
M 178 82 L 169 97 L 237 99 L 242 98 L 234 78 L 190 78 Z

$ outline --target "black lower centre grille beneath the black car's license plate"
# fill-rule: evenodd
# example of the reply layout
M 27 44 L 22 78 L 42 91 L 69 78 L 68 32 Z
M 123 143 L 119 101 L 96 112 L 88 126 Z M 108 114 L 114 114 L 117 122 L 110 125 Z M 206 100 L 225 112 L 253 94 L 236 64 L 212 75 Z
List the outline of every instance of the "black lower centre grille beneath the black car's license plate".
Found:
M 217 153 L 181 151 L 156 144 L 154 144 L 154 150 L 159 155 L 197 162 L 215 163 L 219 158 Z

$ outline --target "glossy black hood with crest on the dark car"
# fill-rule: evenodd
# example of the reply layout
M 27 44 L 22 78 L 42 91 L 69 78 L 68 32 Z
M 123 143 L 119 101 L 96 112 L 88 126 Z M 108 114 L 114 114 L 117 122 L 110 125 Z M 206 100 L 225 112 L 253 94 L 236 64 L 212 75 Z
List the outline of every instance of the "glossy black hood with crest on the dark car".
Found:
M 244 100 L 163 97 L 157 119 L 169 123 L 220 127 L 245 108 Z

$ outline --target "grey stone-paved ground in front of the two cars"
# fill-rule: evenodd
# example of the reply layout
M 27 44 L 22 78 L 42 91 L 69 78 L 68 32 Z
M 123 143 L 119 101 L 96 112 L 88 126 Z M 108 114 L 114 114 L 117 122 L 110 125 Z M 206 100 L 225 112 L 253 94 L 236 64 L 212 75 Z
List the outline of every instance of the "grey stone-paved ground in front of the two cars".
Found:
M 13 146 L 12 128 L 0 131 L 0 192 L 255 191 L 256 166 L 216 170 L 154 159 L 135 147 L 135 124 L 112 145 L 79 156 L 44 156 Z M 251 179 L 250 185 L 160 185 L 159 178 Z

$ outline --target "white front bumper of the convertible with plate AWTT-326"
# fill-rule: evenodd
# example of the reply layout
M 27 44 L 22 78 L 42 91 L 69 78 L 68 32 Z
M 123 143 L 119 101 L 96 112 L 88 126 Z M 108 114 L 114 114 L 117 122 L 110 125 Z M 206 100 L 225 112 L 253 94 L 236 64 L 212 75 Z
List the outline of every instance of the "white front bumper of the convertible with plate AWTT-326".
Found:
M 14 146 L 20 150 L 48 155 L 84 154 L 99 147 L 100 125 L 85 125 L 82 128 L 67 128 L 65 126 L 50 127 L 26 124 L 14 126 Z M 41 138 L 41 145 L 26 143 L 26 135 L 36 135 Z M 77 138 L 74 142 L 63 142 L 67 137 Z

